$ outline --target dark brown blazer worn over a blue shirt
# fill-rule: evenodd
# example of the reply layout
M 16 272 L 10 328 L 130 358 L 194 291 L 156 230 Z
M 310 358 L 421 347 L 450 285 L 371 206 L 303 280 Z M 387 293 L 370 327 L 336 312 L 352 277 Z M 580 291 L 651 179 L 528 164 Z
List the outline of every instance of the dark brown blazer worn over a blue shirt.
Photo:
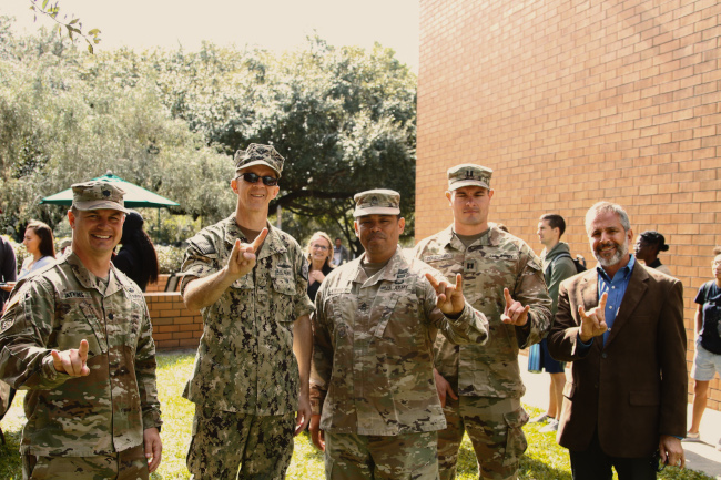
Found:
M 611 457 L 651 456 L 660 435 L 686 436 L 687 389 L 683 286 L 637 263 L 606 345 L 593 338 L 577 353 L 578 306 L 598 305 L 592 268 L 561 284 L 548 335 L 554 358 L 571 361 L 557 440 L 586 450 L 593 430 Z

